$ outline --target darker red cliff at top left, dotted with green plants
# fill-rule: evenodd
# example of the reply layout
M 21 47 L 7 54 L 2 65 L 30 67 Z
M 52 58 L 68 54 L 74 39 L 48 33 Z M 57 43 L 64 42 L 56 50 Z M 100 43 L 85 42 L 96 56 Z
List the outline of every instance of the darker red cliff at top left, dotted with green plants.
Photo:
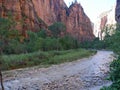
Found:
M 23 35 L 26 30 L 37 31 L 45 28 L 45 23 L 38 18 L 34 4 L 31 0 L 0 0 L 0 17 L 12 15 L 17 22 L 16 28 L 21 30 Z

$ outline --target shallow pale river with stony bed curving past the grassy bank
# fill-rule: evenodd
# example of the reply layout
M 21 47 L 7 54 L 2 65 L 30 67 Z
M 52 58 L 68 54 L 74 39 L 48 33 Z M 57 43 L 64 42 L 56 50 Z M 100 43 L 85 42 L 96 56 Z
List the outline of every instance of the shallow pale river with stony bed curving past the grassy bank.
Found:
M 96 55 L 49 68 L 19 69 L 4 74 L 5 90 L 99 90 L 105 80 L 113 52 Z

